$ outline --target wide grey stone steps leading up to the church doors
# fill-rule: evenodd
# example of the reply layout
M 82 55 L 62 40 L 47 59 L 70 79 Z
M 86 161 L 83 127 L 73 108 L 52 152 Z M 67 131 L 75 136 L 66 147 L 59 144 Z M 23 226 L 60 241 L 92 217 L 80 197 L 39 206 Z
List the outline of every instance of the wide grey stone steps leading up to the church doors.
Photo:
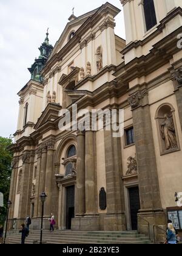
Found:
M 39 243 L 40 232 L 30 230 L 26 244 Z M 55 230 L 43 232 L 43 243 L 48 244 L 149 244 L 149 238 L 139 235 L 138 232 L 73 232 L 71 230 Z M 17 230 L 8 232 L 7 242 L 9 244 L 20 244 L 21 234 Z

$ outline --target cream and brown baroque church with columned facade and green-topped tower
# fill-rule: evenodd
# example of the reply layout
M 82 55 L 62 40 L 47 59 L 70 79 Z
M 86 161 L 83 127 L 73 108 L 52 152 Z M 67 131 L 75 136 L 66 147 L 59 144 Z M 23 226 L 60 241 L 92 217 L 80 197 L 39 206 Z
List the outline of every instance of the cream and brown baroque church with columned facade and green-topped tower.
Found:
M 147 221 L 164 228 L 167 218 L 182 229 L 182 3 L 120 1 L 126 41 L 106 2 L 70 16 L 54 48 L 47 32 L 29 68 L 11 147 L 11 228 L 27 215 L 40 228 L 45 192 L 45 228 L 53 213 L 61 230 L 147 233 Z M 123 109 L 124 135 L 60 130 L 73 104 Z

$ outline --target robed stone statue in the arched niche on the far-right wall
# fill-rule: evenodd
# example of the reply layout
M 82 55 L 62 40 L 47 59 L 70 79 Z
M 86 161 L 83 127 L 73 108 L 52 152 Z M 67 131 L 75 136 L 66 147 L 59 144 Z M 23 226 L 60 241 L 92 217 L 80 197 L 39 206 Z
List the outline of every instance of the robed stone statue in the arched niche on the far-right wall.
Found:
M 161 124 L 161 137 L 165 141 L 166 150 L 177 148 L 178 143 L 173 118 L 165 114 L 164 119 L 164 122 Z

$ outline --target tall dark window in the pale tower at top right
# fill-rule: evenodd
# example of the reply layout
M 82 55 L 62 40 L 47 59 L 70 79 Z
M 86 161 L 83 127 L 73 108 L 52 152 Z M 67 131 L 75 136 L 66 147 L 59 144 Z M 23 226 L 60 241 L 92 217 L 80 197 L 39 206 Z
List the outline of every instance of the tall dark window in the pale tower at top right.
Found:
M 144 16 L 146 20 L 146 30 L 152 29 L 157 24 L 157 18 L 155 14 L 155 5 L 153 0 L 144 0 Z

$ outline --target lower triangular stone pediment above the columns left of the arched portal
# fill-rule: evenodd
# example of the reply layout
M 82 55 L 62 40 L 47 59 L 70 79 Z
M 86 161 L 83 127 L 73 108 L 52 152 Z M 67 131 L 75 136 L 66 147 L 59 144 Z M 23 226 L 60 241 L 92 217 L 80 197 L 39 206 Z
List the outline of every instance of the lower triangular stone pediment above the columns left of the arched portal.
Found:
M 44 112 L 38 119 L 34 129 L 37 130 L 39 127 L 43 126 L 48 122 L 53 122 L 59 117 L 59 111 L 61 110 L 61 106 L 54 103 L 49 103 L 45 108 Z

